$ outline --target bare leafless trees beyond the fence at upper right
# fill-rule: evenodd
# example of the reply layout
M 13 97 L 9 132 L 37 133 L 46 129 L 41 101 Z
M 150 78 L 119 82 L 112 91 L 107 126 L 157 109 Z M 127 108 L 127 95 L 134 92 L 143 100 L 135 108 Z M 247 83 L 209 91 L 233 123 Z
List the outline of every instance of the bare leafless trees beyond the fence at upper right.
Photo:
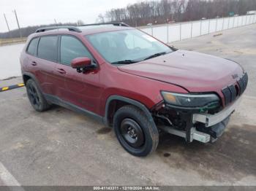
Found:
M 160 0 L 141 1 L 100 14 L 99 22 L 124 22 L 130 26 L 245 15 L 256 10 L 255 0 Z

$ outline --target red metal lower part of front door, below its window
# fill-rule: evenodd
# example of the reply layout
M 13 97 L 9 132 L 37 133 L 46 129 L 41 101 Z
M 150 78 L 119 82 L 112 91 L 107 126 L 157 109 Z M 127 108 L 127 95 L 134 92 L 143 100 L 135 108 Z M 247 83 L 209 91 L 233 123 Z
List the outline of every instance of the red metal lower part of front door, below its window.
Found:
M 59 69 L 64 74 L 59 73 Z M 99 108 L 102 87 L 99 84 L 99 71 L 89 71 L 86 74 L 78 73 L 71 66 L 56 64 L 57 96 L 64 101 L 97 113 Z

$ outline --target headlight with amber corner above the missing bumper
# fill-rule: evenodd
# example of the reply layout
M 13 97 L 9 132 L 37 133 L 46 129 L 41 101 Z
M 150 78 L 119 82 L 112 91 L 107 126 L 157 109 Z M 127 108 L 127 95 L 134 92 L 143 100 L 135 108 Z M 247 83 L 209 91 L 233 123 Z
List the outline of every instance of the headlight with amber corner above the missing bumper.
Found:
M 186 94 L 162 91 L 162 97 L 167 104 L 183 107 L 203 107 L 219 104 L 219 97 L 215 94 Z

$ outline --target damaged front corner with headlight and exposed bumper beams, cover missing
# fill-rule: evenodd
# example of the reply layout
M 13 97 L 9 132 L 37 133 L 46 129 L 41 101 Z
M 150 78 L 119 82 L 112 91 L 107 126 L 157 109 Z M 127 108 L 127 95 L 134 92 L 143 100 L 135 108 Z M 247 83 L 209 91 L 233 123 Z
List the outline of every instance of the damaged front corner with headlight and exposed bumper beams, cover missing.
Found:
M 164 100 L 151 109 L 157 127 L 181 136 L 187 142 L 214 142 L 222 136 L 230 115 L 241 98 L 222 108 L 214 94 L 178 94 L 162 92 Z

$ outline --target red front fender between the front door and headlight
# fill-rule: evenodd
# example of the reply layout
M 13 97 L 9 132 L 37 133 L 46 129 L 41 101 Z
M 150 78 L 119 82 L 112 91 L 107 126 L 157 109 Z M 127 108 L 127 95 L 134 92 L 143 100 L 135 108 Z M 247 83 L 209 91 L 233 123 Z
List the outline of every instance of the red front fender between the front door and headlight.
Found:
M 102 64 L 101 70 L 99 72 L 99 82 L 105 87 L 101 96 L 101 106 L 99 107 L 99 113 L 102 116 L 105 112 L 105 104 L 111 95 L 133 99 L 151 109 L 155 104 L 162 101 L 160 90 L 188 93 L 183 87 L 128 74 L 119 71 L 116 66 L 111 66 L 108 63 Z

